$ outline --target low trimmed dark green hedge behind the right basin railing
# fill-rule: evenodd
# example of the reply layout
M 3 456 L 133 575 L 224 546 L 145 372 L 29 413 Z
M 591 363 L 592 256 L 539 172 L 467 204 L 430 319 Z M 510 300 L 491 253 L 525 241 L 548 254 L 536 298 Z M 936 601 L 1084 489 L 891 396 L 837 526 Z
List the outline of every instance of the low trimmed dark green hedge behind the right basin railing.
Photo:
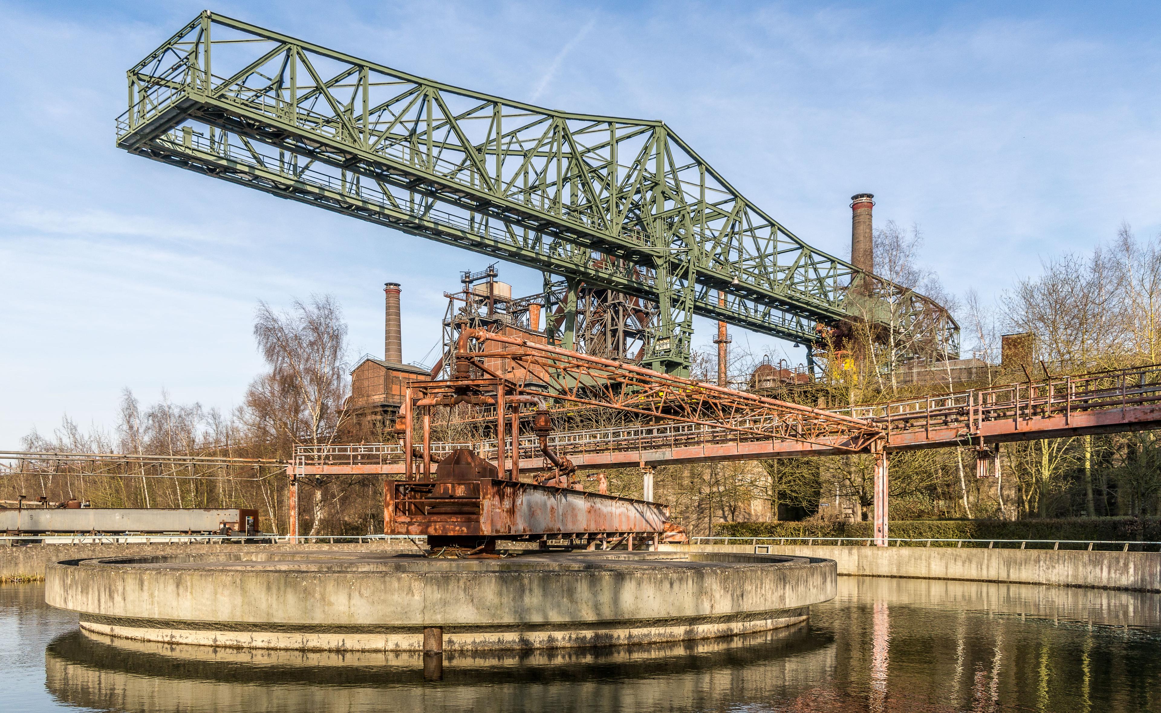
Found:
M 722 538 L 870 538 L 871 523 L 721 523 Z M 1161 541 L 1161 518 L 1072 518 L 1059 520 L 899 520 L 892 538 L 942 540 L 1134 540 Z

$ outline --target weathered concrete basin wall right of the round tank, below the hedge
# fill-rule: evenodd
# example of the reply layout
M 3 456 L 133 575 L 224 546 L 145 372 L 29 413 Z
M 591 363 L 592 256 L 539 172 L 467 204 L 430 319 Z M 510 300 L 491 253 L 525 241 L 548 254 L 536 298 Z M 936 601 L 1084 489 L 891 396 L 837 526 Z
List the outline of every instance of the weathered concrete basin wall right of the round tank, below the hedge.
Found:
M 759 545 L 758 552 L 767 552 Z M 662 545 L 675 552 L 755 552 L 753 545 Z M 829 557 L 839 575 L 1161 591 L 1161 553 L 771 545 L 772 554 Z

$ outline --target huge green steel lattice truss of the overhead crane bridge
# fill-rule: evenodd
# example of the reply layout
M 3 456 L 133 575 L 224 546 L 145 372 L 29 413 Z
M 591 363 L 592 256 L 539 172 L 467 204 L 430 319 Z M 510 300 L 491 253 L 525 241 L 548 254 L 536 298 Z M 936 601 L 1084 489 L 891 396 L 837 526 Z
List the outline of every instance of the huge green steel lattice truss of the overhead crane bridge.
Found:
M 865 318 L 958 353 L 946 310 L 810 247 L 659 121 L 461 89 L 208 12 L 128 80 L 118 146 L 656 302 L 654 368 L 687 367 L 694 314 L 807 344 Z

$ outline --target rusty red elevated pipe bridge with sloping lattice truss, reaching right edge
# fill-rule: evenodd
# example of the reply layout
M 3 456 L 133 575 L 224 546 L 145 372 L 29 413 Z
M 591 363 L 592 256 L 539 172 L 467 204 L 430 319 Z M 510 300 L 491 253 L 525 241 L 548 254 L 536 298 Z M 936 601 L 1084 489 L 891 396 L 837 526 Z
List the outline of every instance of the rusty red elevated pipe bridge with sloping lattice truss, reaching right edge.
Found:
M 512 341 L 477 336 L 481 341 Z M 496 359 L 496 352 L 489 354 Z M 301 446 L 288 468 L 291 481 L 351 474 L 425 481 L 433 477 L 432 463 L 469 451 L 493 463 L 496 471 L 511 473 L 511 480 L 518 480 L 522 470 L 558 474 L 562 469 L 640 467 L 646 500 L 651 500 L 651 470 L 657 466 L 866 453 L 875 455 L 874 533 L 875 541 L 885 545 L 892 452 L 974 447 L 978 474 L 987 475 L 996 467 L 995 446 L 1001 442 L 1161 426 L 1161 365 L 820 410 L 527 341 L 503 352 L 503 358 L 524 365 L 525 375 L 554 374 L 572 384 L 553 391 L 551 398 L 627 410 L 652 423 L 562 433 L 549 433 L 548 426 L 538 428 L 534 423 L 532 434 L 521 434 L 519 409 L 539 402 L 545 412 L 543 384 L 533 382 L 529 389 L 527 383 L 464 377 L 470 376 L 469 365 L 479 365 L 482 359 L 463 352 L 457 355 L 464 365 L 460 379 L 431 382 L 409 392 L 401 444 Z M 610 388 L 614 382 L 619 388 Z M 498 438 L 432 440 L 431 409 L 453 405 L 452 398 L 432 398 L 434 391 L 460 394 L 469 403 L 473 391 L 498 395 L 490 402 L 496 406 Z M 706 419 L 707 411 L 714 420 Z M 421 446 L 412 444 L 418 424 L 412 417 L 423 419 Z

